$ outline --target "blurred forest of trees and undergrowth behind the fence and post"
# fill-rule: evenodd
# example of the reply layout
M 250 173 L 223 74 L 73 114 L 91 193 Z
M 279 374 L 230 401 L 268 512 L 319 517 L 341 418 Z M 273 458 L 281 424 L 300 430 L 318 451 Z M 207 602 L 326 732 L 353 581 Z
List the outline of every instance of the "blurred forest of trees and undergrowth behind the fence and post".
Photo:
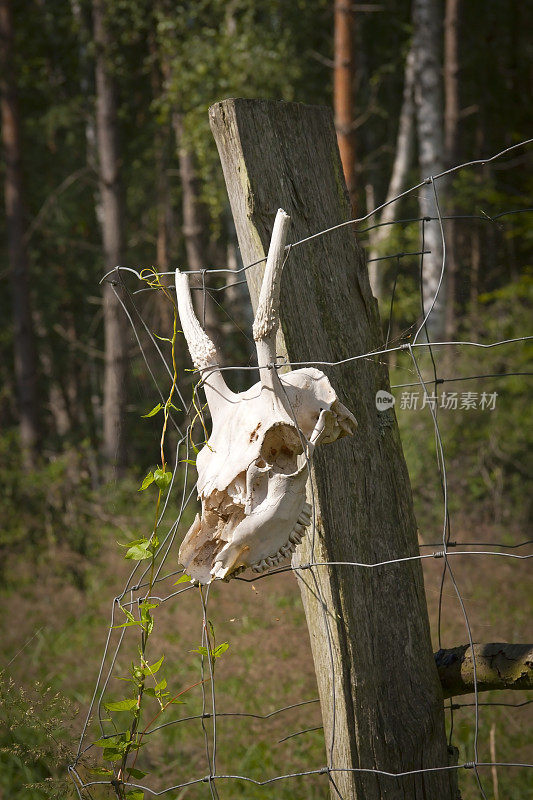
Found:
M 74 736 L 79 727 L 74 709 L 87 705 L 100 655 L 93 643 L 103 642 L 104 614 L 118 576 L 127 572 L 116 540 L 135 538 L 150 524 L 150 504 L 137 490 L 156 464 L 159 429 L 157 420 L 141 416 L 159 398 L 111 286 L 102 288 L 100 281 L 117 264 L 162 272 L 176 266 L 242 266 L 208 107 L 231 96 L 335 105 L 357 216 L 385 200 L 391 176 L 401 191 L 431 172 L 423 146 L 428 93 L 433 92 L 437 115 L 430 131 L 437 134 L 434 163 L 441 168 L 528 138 L 533 63 L 526 4 L 348 4 L 342 12 L 351 41 L 344 99 L 337 94 L 343 86 L 339 48 L 346 44 L 334 36 L 339 5 L 331 0 L 0 3 L 6 211 L 0 219 L 0 667 L 5 667 L 0 715 L 9 723 L 0 733 L 0 797 L 67 796 L 69 731 Z M 337 19 L 337 34 L 339 25 Z M 418 67 L 410 72 L 415 45 Z M 425 84 L 428 75 L 433 83 Z M 502 161 L 458 173 L 443 189 L 446 213 L 464 219 L 447 227 L 453 280 L 443 295 L 437 338 L 495 341 L 529 333 L 531 216 L 495 219 L 531 205 L 528 156 L 528 148 L 516 150 Z M 396 219 L 419 214 L 416 195 L 394 206 Z M 386 230 L 377 237 L 361 234 L 370 255 L 418 250 L 418 222 Z M 376 263 L 373 280 L 385 337 L 397 264 Z M 417 256 L 401 259 L 390 331 L 396 343 L 408 341 L 419 315 L 418 270 Z M 212 290 L 219 288 L 208 280 Z M 138 288 L 130 279 L 118 287 L 130 311 L 131 291 Z M 246 290 L 235 281 L 231 291 L 212 292 L 210 298 L 202 311 L 223 345 L 225 363 L 247 364 Z M 148 329 L 168 337 L 169 304 L 150 293 L 136 295 L 134 302 Z M 150 346 L 144 334 L 141 339 Z M 442 418 L 458 539 L 513 544 L 525 538 L 532 433 L 524 373 L 530 355 L 522 343 L 483 356 L 461 354 L 460 364 L 443 354 L 439 362 L 448 377 L 495 376 L 492 383 L 471 380 L 461 391 L 498 393 L 493 412 L 465 409 Z M 193 377 L 186 371 L 183 343 L 178 363 L 180 386 L 190 394 Z M 390 366 L 392 383 L 414 380 L 396 360 Z M 155 361 L 153 368 L 164 383 Z M 248 379 L 238 372 L 232 376 L 235 388 Z M 399 407 L 398 414 L 421 540 L 433 541 L 441 508 L 431 420 Z M 485 641 L 527 636 L 526 578 L 512 569 L 505 565 L 495 576 L 490 564 L 478 561 L 475 575 L 464 571 L 474 627 L 489 629 L 480 637 Z M 431 570 L 426 581 L 434 617 Z M 241 697 L 242 681 L 253 674 L 253 657 L 265 637 L 270 643 L 265 695 L 272 707 L 287 698 L 292 702 L 295 687 L 313 696 L 294 585 L 280 577 L 268 597 L 264 590 L 262 598 L 256 595 L 243 590 L 249 610 L 237 622 L 234 609 L 220 604 L 220 625 L 228 628 L 234 653 L 233 662 L 228 654 L 223 675 L 229 704 Z M 170 617 L 167 622 L 174 626 Z M 184 675 L 192 669 L 188 630 L 197 622 L 197 609 L 180 609 L 180 630 L 161 634 L 169 654 L 187 662 Z M 466 639 L 454 606 L 444 623 L 451 644 Z M 276 695 L 280 661 L 287 671 L 295 658 L 280 636 L 293 637 L 308 657 L 306 667 L 297 667 L 298 681 L 283 682 Z M 484 741 L 489 747 L 496 737 L 501 760 L 523 754 L 527 713 L 500 709 L 484 717 Z M 456 726 L 468 760 L 471 725 Z M 59 744 L 58 728 L 65 733 Z M 273 735 L 283 731 L 274 728 Z M 259 764 L 274 769 L 271 734 L 254 729 L 250 744 L 237 731 L 228 732 L 228 752 L 237 754 L 240 771 Z M 305 744 L 295 742 L 284 751 L 287 771 L 313 758 L 320 761 L 320 732 Z M 195 740 L 169 734 L 153 770 L 163 781 L 180 768 L 178 762 L 194 765 L 200 756 Z M 502 796 L 525 796 L 525 776 L 499 779 Z M 303 786 L 301 795 L 291 791 L 287 797 L 325 796 L 319 788 L 316 795 Z M 465 797 L 475 796 L 468 791 L 467 784 Z

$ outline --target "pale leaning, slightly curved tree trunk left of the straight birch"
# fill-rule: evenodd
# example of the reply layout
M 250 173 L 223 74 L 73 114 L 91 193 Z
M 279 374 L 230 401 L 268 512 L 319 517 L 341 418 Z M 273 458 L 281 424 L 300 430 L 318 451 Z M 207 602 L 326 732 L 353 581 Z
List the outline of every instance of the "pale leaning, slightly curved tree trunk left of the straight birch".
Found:
M 389 188 L 385 198 L 385 202 L 389 203 L 389 205 L 385 206 L 380 216 L 374 220 L 374 222 L 379 222 L 382 227 L 376 228 L 371 235 L 371 258 L 376 258 L 378 256 L 380 245 L 391 232 L 390 223 L 392 223 L 398 215 L 398 203 L 391 203 L 390 201 L 397 197 L 403 190 L 407 179 L 407 173 L 413 158 L 415 133 L 415 107 L 413 96 L 415 77 L 414 67 L 414 51 L 411 45 L 405 61 L 403 100 L 400 111 L 400 119 L 398 122 L 398 135 L 396 137 L 394 164 L 392 165 Z M 368 210 L 371 211 L 372 209 Z M 376 297 L 378 300 L 383 297 L 382 269 L 383 268 L 380 266 L 379 261 L 373 261 L 369 265 L 370 285 L 372 287 L 374 297 Z

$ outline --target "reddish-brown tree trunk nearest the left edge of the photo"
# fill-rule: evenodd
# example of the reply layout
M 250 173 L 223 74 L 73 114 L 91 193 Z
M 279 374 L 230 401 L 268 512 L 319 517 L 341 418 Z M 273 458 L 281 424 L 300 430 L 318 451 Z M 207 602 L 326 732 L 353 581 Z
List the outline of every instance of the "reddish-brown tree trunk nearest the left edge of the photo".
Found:
M 28 254 L 24 242 L 20 124 L 9 0 L 0 0 L 0 90 L 17 407 L 22 459 L 24 466 L 29 468 L 39 447 L 37 359 L 30 305 Z

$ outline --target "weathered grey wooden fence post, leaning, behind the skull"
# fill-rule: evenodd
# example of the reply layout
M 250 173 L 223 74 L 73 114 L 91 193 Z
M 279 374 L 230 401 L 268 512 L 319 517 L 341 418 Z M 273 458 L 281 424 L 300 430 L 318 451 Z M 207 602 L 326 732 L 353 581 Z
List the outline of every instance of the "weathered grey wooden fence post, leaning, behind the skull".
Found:
M 264 257 L 279 207 L 291 216 L 292 242 L 350 218 L 329 109 L 227 100 L 210 109 L 210 119 L 245 264 Z M 246 273 L 254 306 L 262 272 L 260 265 Z M 379 348 L 376 302 L 351 226 L 291 250 L 281 320 L 278 353 L 293 362 L 337 361 Z M 394 411 L 378 411 L 375 402 L 379 389 L 389 389 L 387 368 L 367 358 L 326 371 L 359 429 L 316 454 L 316 541 L 314 549 L 310 535 L 302 543 L 300 563 L 372 563 L 417 554 Z M 402 778 L 350 771 L 448 764 L 420 562 L 313 567 L 297 574 L 330 777 L 342 797 L 455 800 L 453 771 Z M 333 787 L 332 793 L 338 797 Z

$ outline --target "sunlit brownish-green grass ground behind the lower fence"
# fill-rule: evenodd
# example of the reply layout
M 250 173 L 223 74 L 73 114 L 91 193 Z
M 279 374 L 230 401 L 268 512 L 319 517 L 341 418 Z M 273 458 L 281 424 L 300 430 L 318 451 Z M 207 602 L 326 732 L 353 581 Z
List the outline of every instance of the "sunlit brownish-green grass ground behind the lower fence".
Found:
M 34 681 L 52 692 L 66 695 L 80 709 L 68 728 L 67 744 L 72 746 L 79 733 L 95 681 L 108 626 L 113 597 L 118 593 L 129 572 L 116 539 L 124 539 L 131 526 L 131 535 L 138 533 L 132 519 L 117 515 L 122 533 L 109 526 L 100 533 L 100 552 L 95 563 L 86 565 L 84 587 L 78 588 L 68 580 L 67 554 L 59 547 L 47 552 L 41 563 L 22 561 L 10 566 L 9 588 L 3 592 L 2 658 L 11 661 L 6 675 L 15 685 L 31 690 Z M 465 523 L 466 526 L 466 523 Z M 477 540 L 512 538 L 509 531 L 485 526 L 475 531 Z M 461 526 L 456 538 L 471 538 L 473 531 Z M 516 534 L 519 538 L 519 533 Z M 518 541 L 518 539 L 516 539 Z M 440 585 L 441 561 L 427 560 L 425 567 L 426 594 L 436 637 L 436 616 Z M 520 641 L 526 629 L 530 608 L 527 582 L 527 562 L 479 556 L 475 560 L 457 557 L 453 562 L 461 587 L 476 641 Z M 171 567 L 172 568 L 172 567 Z M 170 593 L 175 576 L 159 591 Z M 449 582 L 444 587 L 443 646 L 467 641 L 464 621 L 457 598 Z M 217 723 L 218 774 L 245 775 L 264 780 L 278 774 L 316 769 L 324 765 L 324 742 L 321 730 L 312 730 L 286 741 L 290 734 L 320 726 L 317 702 L 275 714 L 269 719 L 232 716 L 246 713 L 267 715 L 286 705 L 314 701 L 317 697 L 305 617 L 294 577 L 290 573 L 273 576 L 255 584 L 232 581 L 215 585 L 209 598 L 209 617 L 217 642 L 227 641 L 229 649 L 217 662 L 216 709 L 228 716 Z M 192 589 L 157 609 L 156 626 L 151 638 L 153 659 L 165 655 L 164 674 L 171 692 L 199 680 L 199 657 L 190 651 L 201 643 L 202 606 L 199 592 Z M 127 673 L 129 660 L 135 657 L 136 634 L 129 631 L 113 676 Z M 24 645 L 26 645 L 24 647 Z M 435 649 L 438 644 L 435 638 Z M 24 647 L 22 652 L 20 649 Z M 124 696 L 124 685 L 112 677 L 107 699 Z M 211 710 L 210 687 L 206 686 L 207 710 Z M 202 713 L 200 687 L 184 697 L 184 705 L 171 706 L 157 720 L 170 722 L 181 717 Z M 482 695 L 482 702 L 513 702 L 525 700 L 522 693 L 492 693 Z M 461 703 L 473 702 L 472 697 L 460 698 Z M 35 712 L 39 715 L 39 708 Z M 479 755 L 481 761 L 493 760 L 489 747 L 493 729 L 496 760 L 531 761 L 531 730 L 533 706 L 509 708 L 482 706 L 480 709 Z M 46 705 L 42 709 L 45 713 Z M 5 709 L 3 710 L 5 714 Z M 9 716 L 9 711 L 7 712 Z M 146 719 L 157 713 L 155 701 L 147 710 Z M 68 716 L 68 714 L 66 715 Z M 66 725 L 66 723 L 65 723 Z M 16 727 L 16 725 L 15 725 Z M 209 719 L 193 719 L 169 725 L 155 732 L 142 750 L 138 764 L 149 774 L 143 779 L 154 790 L 203 777 L 207 774 L 204 729 L 211 746 L 212 727 Z M 93 738 L 98 736 L 93 731 Z M 19 736 L 25 747 L 24 726 Z M 473 758 L 474 709 L 462 707 L 454 713 L 454 743 L 460 749 L 460 761 Z M 31 737 L 30 737 L 31 739 Z M 69 741 L 70 740 L 70 741 Z M 89 739 L 90 740 L 90 739 Z M 5 747 L 5 742 L 3 742 Z M 9 748 L 8 748 L 9 750 Z M 53 750 L 52 750 L 53 753 Z M 93 753 L 96 758 L 92 759 Z M 100 751 L 90 752 L 98 761 Z M 65 755 L 62 756 L 66 758 Z M 0 755 L 10 770 L 0 774 L 0 797 L 30 800 L 46 796 L 39 788 L 24 789 L 23 784 L 35 780 L 30 770 L 13 759 Z M 50 752 L 45 760 L 50 761 Z M 41 765 L 43 775 L 61 775 L 64 764 Z M 482 773 L 487 796 L 493 794 L 493 775 Z M 529 774 L 526 770 L 500 768 L 497 772 L 500 798 L 522 800 L 527 797 Z M 461 786 L 465 800 L 479 796 L 471 772 L 461 771 Z M 98 780 L 99 778 L 94 778 Z M 101 780 L 101 778 L 100 778 Z M 63 786 L 63 794 L 67 796 Z M 264 787 L 238 780 L 223 780 L 218 785 L 220 798 L 326 798 L 325 776 L 312 775 L 278 782 Z M 98 787 L 93 796 L 112 796 L 108 789 Z M 177 798 L 209 797 L 209 787 L 200 783 L 168 795 Z

